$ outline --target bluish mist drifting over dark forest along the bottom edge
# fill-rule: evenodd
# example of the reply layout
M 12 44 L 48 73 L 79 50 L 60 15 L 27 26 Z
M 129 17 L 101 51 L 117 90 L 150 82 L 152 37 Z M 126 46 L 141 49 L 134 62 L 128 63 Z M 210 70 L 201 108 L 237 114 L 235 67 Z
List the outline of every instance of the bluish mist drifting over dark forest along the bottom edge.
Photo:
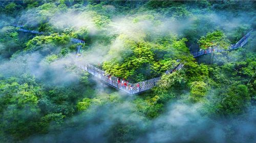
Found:
M 212 120 L 202 115 L 203 105 L 170 104 L 165 113 L 149 121 L 134 111 L 134 104 L 92 107 L 71 118 L 61 132 L 34 136 L 29 142 L 113 142 L 123 137 L 129 142 L 254 142 L 255 108 L 247 120 Z M 201 108 L 201 109 L 200 109 Z M 132 126 L 125 134 L 115 134 L 118 125 Z M 54 130 L 54 129 L 53 129 Z M 232 133 L 230 132 L 232 130 Z

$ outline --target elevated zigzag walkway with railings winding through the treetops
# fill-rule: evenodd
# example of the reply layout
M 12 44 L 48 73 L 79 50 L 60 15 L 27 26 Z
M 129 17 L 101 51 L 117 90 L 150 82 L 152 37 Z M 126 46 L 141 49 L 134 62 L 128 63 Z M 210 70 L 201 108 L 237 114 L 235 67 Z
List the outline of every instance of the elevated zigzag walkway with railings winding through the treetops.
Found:
M 35 33 L 35 34 L 44 34 L 44 32 L 22 29 L 23 25 L 16 24 L 13 26 L 19 27 L 20 29 L 18 29 L 18 31 Z M 238 49 L 239 47 L 244 46 L 248 42 L 248 38 L 249 38 L 251 32 L 252 32 L 252 30 L 249 33 L 247 33 L 242 39 L 240 39 L 236 44 L 232 44 L 227 50 L 218 49 L 218 47 L 214 47 L 214 48 L 209 48 L 207 50 L 200 49 L 196 52 L 190 52 L 190 53 L 195 58 L 195 57 L 198 57 L 198 56 L 201 56 L 204 54 L 210 54 L 213 52 L 223 52 L 223 51 L 230 51 L 230 50 Z M 48 34 L 51 34 L 51 33 L 48 33 Z M 71 41 L 75 42 L 75 43 L 84 44 L 83 40 L 76 39 L 76 38 L 71 38 Z M 81 52 L 80 52 L 81 47 L 82 47 L 82 45 L 77 46 L 77 55 L 81 54 Z M 79 56 L 77 56 L 77 57 L 79 57 Z M 180 60 L 177 60 L 176 62 L 180 62 Z M 157 82 L 161 79 L 161 77 L 158 77 L 158 78 L 145 80 L 145 81 L 141 81 L 141 82 L 137 82 L 137 83 L 130 83 L 130 82 L 127 82 L 127 81 L 124 81 L 121 79 L 118 80 L 117 77 L 110 76 L 105 71 L 103 71 L 89 63 L 76 63 L 76 65 L 78 67 L 80 67 L 81 69 L 86 70 L 88 73 L 90 73 L 91 75 L 93 75 L 94 77 L 96 77 L 97 79 L 102 81 L 103 83 L 108 84 L 108 85 L 110 85 L 116 89 L 119 89 L 125 93 L 128 93 L 128 94 L 138 94 L 138 93 L 144 92 L 146 90 L 150 90 L 154 86 L 156 86 Z M 165 71 L 165 74 L 171 74 L 176 70 L 180 70 L 183 66 L 184 66 L 184 64 L 179 63 L 174 68 Z

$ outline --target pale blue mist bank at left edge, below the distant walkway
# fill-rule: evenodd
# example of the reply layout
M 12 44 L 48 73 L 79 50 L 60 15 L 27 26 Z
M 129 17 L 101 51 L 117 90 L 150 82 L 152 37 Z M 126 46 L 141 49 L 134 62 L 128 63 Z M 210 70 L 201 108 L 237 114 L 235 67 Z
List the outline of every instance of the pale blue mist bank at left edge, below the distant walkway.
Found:
M 18 77 L 23 74 L 33 75 L 36 79 L 46 81 L 54 85 L 75 84 L 78 81 L 78 75 L 68 72 L 65 66 L 71 66 L 74 63 L 74 55 L 69 58 L 59 59 L 52 63 L 47 63 L 44 56 L 38 52 L 19 55 L 10 61 L 2 62 L 0 73 L 2 77 Z

